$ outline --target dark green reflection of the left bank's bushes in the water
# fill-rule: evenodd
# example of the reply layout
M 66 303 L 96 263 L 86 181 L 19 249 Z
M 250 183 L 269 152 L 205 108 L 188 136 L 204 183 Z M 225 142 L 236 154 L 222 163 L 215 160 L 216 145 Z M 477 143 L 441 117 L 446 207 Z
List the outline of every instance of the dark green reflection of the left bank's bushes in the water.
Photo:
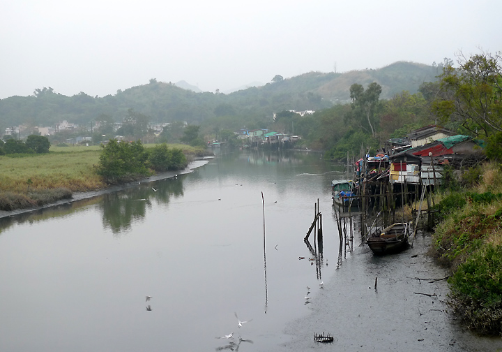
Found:
M 135 188 L 105 194 L 100 203 L 103 225 L 119 237 L 123 231 L 130 230 L 133 223 L 144 219 L 147 210 L 152 207 L 152 200 L 159 204 L 169 203 L 173 196 L 183 196 L 183 177 L 139 184 Z

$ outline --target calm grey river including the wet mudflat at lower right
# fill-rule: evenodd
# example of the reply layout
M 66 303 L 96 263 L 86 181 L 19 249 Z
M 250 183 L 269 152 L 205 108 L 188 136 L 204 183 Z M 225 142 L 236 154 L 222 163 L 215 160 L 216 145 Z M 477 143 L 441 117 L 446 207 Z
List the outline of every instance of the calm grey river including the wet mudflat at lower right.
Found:
M 385 257 L 355 240 L 339 257 L 336 178 L 314 152 L 222 151 L 0 219 L 0 351 L 502 349 L 448 314 L 429 235 Z M 303 242 L 318 201 L 320 263 Z M 334 342 L 314 342 L 322 332 Z

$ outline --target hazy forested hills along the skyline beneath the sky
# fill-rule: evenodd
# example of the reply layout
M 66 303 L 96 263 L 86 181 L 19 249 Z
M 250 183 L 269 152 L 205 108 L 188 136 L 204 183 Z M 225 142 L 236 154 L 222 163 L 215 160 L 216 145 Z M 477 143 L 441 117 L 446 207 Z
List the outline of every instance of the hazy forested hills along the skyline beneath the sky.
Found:
M 149 117 L 150 122 L 201 124 L 208 119 L 233 117 L 234 123 L 245 122 L 249 128 L 270 122 L 274 112 L 322 110 L 347 102 L 353 83 L 366 86 L 377 82 L 382 87 L 381 98 L 386 99 L 402 90 L 413 94 L 422 82 L 436 80 L 437 74 L 435 66 L 397 62 L 377 70 L 310 72 L 231 94 L 196 93 L 155 79 L 104 97 L 89 96 L 85 92 L 64 96 L 56 89 L 43 87 L 35 89 L 32 96 L 0 100 L 0 131 L 20 124 L 53 126 L 62 120 L 90 126 L 91 122 L 104 119 L 102 115 L 109 121 L 121 122 L 130 109 Z

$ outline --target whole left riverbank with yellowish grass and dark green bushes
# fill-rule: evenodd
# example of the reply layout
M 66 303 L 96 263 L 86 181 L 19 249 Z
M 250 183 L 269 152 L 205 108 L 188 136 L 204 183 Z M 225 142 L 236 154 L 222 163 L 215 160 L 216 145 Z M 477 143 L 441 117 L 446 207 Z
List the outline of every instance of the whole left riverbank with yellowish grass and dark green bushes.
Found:
M 55 147 L 46 154 L 0 156 L 0 210 L 40 207 L 109 184 L 179 170 L 206 149 L 112 140 L 106 147 Z M 134 166 L 134 167 L 132 167 Z

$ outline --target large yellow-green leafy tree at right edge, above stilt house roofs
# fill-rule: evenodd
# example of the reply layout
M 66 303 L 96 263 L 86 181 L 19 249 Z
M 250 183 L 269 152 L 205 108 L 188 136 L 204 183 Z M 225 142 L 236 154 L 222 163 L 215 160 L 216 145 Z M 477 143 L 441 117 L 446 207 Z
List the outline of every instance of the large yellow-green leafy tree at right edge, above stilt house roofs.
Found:
M 443 122 L 462 126 L 472 135 L 489 137 L 502 131 L 502 57 L 482 53 L 446 62 L 440 75 L 441 91 L 432 109 Z

